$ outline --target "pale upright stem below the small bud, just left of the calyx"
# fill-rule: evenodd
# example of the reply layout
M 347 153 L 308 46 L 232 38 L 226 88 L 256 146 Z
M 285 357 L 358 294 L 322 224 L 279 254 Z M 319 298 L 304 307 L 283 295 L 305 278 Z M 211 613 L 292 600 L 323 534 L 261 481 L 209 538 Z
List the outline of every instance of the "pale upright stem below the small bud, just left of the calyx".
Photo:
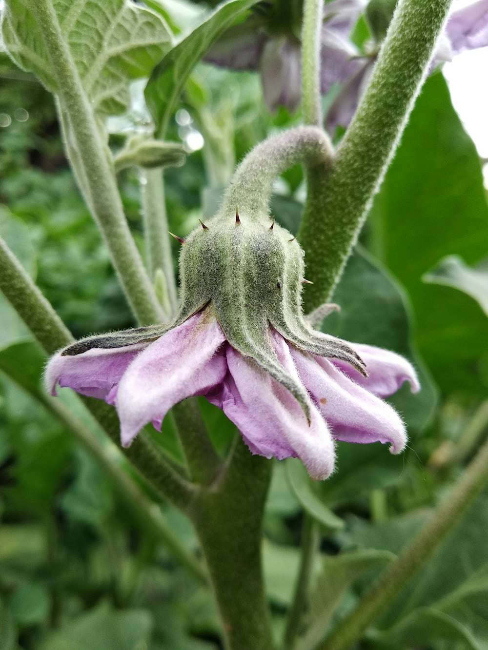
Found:
M 171 310 L 165 317 L 170 320 L 176 311 L 178 296 L 168 235 L 163 169 L 141 168 L 139 173 L 149 274 L 154 281 L 157 269 L 160 268 L 163 272 Z

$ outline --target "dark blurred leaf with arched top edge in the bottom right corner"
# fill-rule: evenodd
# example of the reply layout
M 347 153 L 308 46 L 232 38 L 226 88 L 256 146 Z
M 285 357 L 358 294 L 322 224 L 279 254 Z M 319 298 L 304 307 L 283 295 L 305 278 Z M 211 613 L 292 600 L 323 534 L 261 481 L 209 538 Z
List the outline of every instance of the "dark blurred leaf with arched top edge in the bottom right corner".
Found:
M 372 634 L 375 647 L 398 650 L 419 645 L 431 645 L 438 641 L 459 643 L 460 649 L 481 650 L 470 631 L 455 618 L 433 608 L 414 610 L 388 632 Z

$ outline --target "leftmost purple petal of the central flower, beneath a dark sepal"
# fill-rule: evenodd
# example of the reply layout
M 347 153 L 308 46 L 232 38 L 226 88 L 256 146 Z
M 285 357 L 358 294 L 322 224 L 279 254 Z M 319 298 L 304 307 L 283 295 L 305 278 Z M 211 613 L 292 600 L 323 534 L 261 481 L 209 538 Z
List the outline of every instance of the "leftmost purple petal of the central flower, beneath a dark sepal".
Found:
M 123 348 L 92 348 L 75 355 L 58 352 L 47 364 L 44 383 L 51 395 L 57 395 L 59 384 L 81 395 L 105 399 L 129 363 L 147 346 L 148 343 L 138 343 Z

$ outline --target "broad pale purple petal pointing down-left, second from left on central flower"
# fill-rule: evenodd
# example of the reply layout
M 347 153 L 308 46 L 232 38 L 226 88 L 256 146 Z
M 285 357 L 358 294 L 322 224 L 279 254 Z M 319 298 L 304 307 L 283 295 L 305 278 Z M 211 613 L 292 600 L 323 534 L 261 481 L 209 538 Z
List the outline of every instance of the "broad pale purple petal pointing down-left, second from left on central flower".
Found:
M 174 404 L 204 395 L 223 380 L 227 366 L 217 350 L 224 341 L 215 315 L 204 309 L 134 359 L 112 395 L 124 447 L 145 424 L 161 422 Z

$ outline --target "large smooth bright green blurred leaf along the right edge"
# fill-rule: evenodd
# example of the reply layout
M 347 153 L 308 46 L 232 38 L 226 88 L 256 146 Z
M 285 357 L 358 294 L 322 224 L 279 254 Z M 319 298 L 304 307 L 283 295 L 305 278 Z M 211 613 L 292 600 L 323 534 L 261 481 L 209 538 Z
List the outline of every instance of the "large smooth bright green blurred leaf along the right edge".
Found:
M 372 246 L 413 302 L 420 352 L 442 389 L 485 391 L 474 369 L 488 354 L 488 321 L 461 292 L 422 276 L 446 255 L 468 265 L 488 251 L 480 161 L 452 108 L 441 74 L 428 80 L 379 194 Z

